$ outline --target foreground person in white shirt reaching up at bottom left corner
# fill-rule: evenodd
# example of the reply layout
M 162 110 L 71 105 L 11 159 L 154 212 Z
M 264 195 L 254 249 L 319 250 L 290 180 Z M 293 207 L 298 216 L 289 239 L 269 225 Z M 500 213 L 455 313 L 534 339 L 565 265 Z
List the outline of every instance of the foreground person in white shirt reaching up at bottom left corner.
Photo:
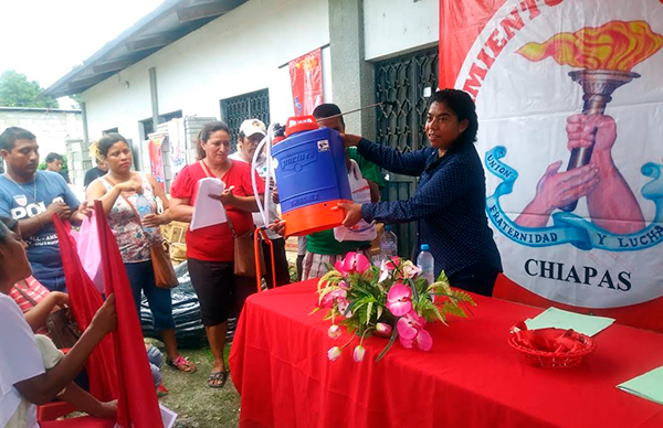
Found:
M 32 275 L 24 244 L 0 222 L 0 427 L 33 428 L 36 405 L 59 397 L 96 417 L 114 417 L 115 403 L 99 403 L 72 383 L 92 350 L 115 329 L 115 297 L 108 297 L 69 354 L 35 336 L 9 293 Z M 39 338 L 39 339 L 36 339 Z

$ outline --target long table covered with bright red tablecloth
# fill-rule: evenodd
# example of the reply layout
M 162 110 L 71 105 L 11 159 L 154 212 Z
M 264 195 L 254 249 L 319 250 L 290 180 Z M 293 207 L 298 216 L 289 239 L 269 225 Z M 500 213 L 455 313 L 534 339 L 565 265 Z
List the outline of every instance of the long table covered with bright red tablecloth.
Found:
M 579 367 L 527 365 L 506 343 L 512 325 L 539 308 L 476 296 L 469 319 L 430 325 L 430 352 L 365 341 L 366 357 L 327 336 L 329 321 L 308 315 L 315 281 L 246 300 L 230 355 L 242 395 L 240 426 L 314 427 L 615 427 L 661 428 L 663 406 L 615 385 L 663 364 L 663 335 L 612 325 Z

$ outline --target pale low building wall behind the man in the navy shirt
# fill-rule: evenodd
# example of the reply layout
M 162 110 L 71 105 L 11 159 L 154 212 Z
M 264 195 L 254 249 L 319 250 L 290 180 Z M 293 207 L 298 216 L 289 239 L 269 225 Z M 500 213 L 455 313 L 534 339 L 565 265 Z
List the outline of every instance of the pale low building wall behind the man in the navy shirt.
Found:
M 66 140 L 83 139 L 80 111 L 0 109 L 0 132 L 14 126 L 36 136 L 42 160 L 50 152 L 66 154 Z

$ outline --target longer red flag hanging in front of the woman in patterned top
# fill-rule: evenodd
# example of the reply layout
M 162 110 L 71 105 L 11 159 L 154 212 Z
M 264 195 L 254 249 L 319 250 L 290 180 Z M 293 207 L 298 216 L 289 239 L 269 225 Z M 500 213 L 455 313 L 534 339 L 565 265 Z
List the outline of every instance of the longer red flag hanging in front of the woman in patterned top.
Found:
M 129 279 L 101 201 L 95 201 L 94 210 L 106 296 L 115 293 L 118 320 L 113 333 L 118 362 L 117 381 L 122 392 L 117 424 L 123 428 L 164 428 Z

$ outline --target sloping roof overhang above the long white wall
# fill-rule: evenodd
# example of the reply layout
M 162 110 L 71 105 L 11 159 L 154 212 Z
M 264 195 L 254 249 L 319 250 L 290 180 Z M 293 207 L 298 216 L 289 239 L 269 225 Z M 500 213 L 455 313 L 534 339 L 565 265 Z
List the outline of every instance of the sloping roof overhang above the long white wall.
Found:
M 80 94 L 248 0 L 165 0 L 41 95 Z

